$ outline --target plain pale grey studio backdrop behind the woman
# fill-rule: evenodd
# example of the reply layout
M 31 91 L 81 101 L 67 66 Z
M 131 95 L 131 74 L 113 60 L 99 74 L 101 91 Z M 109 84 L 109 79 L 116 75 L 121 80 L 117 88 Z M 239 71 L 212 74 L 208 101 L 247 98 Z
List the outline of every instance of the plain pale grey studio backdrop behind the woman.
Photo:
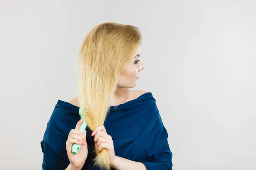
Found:
M 1 0 L 1 170 L 42 168 L 47 122 L 103 22 L 140 28 L 133 89 L 155 97 L 174 170 L 256 170 L 255 0 Z

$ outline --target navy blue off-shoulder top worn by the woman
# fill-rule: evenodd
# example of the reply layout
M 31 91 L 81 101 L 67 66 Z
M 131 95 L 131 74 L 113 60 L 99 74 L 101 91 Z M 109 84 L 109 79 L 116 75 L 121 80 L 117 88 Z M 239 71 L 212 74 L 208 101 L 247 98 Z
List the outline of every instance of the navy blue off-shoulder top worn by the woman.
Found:
M 116 156 L 145 164 L 147 170 L 172 170 L 168 133 L 151 92 L 118 106 L 111 106 L 104 126 L 113 139 Z M 70 164 L 66 141 L 80 120 L 79 107 L 58 100 L 41 141 L 43 170 L 63 170 Z M 95 148 L 92 131 L 86 128 L 88 156 L 82 170 L 93 167 Z M 114 168 L 112 167 L 112 170 Z

